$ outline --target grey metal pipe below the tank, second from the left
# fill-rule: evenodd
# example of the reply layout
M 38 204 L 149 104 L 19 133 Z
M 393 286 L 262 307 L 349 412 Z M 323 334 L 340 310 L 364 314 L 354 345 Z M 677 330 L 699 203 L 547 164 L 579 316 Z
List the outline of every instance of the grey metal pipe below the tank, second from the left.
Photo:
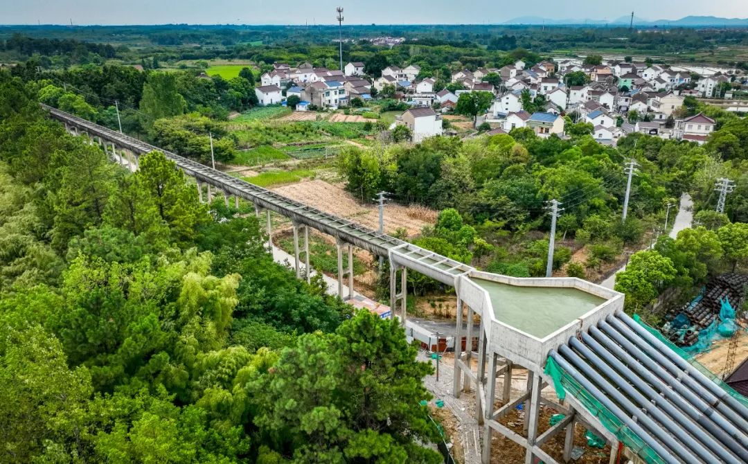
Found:
M 673 452 L 675 452 L 675 454 L 677 454 L 678 457 L 681 458 L 681 460 L 684 460 L 684 462 L 689 464 L 701 464 L 701 461 L 696 459 L 692 452 L 684 448 L 684 446 L 681 445 L 680 442 L 676 441 L 672 436 L 666 433 L 662 429 L 662 427 L 659 427 L 657 423 L 649 417 L 649 415 L 643 414 L 643 412 L 639 408 L 637 408 L 637 406 L 631 403 L 628 398 L 623 396 L 620 391 L 618 391 L 616 388 L 613 388 L 610 383 L 605 382 L 604 379 L 602 379 L 602 376 L 599 373 L 595 372 L 595 370 L 592 370 L 592 368 L 589 367 L 589 364 L 583 362 L 581 358 L 579 358 L 579 356 L 574 354 L 574 352 L 571 351 L 571 348 L 566 345 L 562 345 L 561 347 L 559 347 L 559 352 L 565 359 L 571 362 L 571 364 L 574 364 L 574 367 L 577 367 L 577 369 L 581 371 L 583 376 L 591 379 L 592 382 L 594 382 L 599 388 L 601 388 L 604 394 L 607 394 L 608 397 L 616 400 L 616 403 L 621 405 L 625 412 L 628 413 L 628 415 L 633 416 L 637 420 L 637 424 L 642 424 L 642 426 L 645 427 L 646 430 L 649 431 L 649 433 L 660 440 L 663 445 L 666 445 Z M 595 397 L 595 399 L 598 401 L 600 400 L 599 397 Z M 621 419 L 621 417 L 619 417 L 619 419 Z

